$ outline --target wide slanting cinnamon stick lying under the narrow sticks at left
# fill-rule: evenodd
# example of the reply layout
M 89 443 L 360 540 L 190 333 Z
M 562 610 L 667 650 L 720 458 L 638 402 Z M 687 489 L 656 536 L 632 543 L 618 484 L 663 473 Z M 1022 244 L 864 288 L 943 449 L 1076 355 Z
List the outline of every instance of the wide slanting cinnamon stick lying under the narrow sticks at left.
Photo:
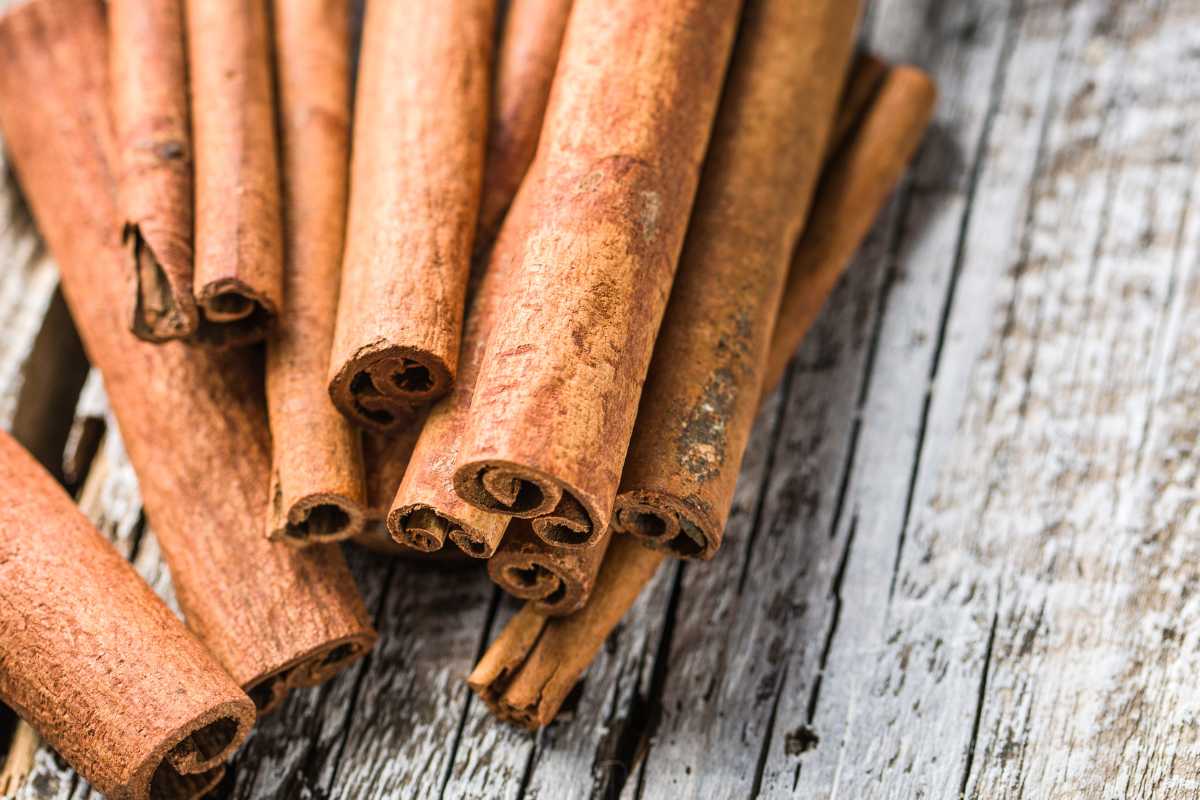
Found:
M 341 551 L 262 535 L 270 471 L 250 354 L 151 345 L 122 324 L 115 142 L 98 0 L 34 0 L 0 23 L 0 128 L 91 362 L 104 377 L 188 626 L 259 709 L 370 649 Z

